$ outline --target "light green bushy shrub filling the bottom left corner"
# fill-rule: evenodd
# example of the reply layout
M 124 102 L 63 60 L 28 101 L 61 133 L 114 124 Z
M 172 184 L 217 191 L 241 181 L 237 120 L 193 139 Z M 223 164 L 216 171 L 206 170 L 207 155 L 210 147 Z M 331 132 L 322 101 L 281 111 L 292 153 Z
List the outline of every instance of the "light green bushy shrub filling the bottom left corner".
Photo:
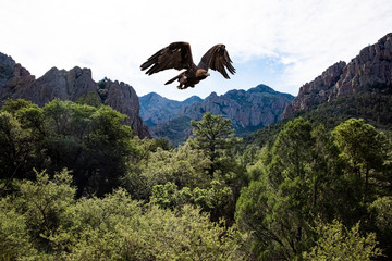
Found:
M 66 170 L 56 173 L 50 181 L 46 173 L 36 172 L 36 182 L 16 184 L 17 194 L 1 201 L 1 259 L 39 256 L 58 248 L 50 238 L 72 221 L 70 208 L 76 189 Z

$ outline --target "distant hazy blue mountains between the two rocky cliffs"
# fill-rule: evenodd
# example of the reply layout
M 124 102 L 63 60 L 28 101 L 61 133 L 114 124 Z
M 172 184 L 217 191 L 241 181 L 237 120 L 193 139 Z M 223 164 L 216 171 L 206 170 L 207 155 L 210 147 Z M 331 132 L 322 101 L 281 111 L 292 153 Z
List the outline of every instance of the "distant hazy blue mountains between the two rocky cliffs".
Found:
M 198 121 L 210 112 L 232 121 L 238 136 L 280 121 L 283 110 L 294 97 L 258 85 L 248 90 L 230 90 L 206 99 L 191 97 L 183 102 L 169 100 L 157 94 L 140 97 L 140 116 L 154 137 L 167 138 L 174 145 L 185 141 L 192 134 L 189 121 Z

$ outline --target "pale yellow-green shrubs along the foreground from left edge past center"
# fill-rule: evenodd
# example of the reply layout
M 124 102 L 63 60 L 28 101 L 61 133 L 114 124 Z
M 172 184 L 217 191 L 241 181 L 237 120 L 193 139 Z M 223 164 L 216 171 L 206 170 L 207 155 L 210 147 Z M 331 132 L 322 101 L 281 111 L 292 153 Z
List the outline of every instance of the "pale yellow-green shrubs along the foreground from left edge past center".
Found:
M 143 207 L 124 189 L 75 200 L 68 171 L 0 201 L 2 260 L 243 260 L 243 236 L 191 206 Z

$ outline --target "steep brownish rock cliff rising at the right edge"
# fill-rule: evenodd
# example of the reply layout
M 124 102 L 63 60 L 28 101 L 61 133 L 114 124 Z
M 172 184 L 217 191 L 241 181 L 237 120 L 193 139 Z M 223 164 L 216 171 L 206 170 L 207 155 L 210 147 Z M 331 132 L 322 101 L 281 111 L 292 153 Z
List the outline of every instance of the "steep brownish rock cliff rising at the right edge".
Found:
M 392 33 L 364 48 L 350 63 L 339 62 L 299 88 L 284 116 L 317 108 L 340 97 L 392 88 Z

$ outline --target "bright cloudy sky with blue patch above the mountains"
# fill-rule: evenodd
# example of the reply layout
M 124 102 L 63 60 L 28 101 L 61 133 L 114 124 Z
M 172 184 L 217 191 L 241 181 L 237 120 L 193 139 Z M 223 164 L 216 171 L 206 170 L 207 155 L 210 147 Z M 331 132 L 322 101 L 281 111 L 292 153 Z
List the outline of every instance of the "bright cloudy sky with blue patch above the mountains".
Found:
M 299 87 L 392 33 L 392 0 L 0 0 L 0 52 L 37 78 L 51 67 L 88 67 L 137 95 L 184 100 L 259 84 L 296 96 Z M 216 71 L 195 88 L 164 83 L 167 70 L 139 70 L 173 41 L 191 44 L 197 64 L 224 44 L 236 74 Z

